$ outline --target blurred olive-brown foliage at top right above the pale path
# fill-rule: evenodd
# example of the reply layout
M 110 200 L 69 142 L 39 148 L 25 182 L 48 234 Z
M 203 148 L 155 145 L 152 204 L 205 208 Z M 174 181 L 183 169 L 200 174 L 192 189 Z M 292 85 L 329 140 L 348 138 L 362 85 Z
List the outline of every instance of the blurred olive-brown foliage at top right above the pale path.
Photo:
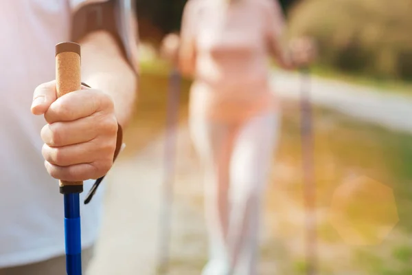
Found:
M 290 35 L 314 36 L 323 65 L 412 79 L 409 10 L 404 0 L 305 0 L 290 13 Z

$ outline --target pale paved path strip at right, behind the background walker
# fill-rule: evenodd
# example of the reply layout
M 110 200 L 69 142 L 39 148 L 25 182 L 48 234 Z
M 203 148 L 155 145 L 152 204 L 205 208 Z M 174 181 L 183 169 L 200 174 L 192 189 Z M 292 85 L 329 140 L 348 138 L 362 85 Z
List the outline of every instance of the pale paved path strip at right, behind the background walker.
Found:
M 301 76 L 274 71 L 271 76 L 275 92 L 285 98 L 298 98 Z M 376 89 L 349 85 L 336 80 L 312 77 L 312 102 L 352 115 L 389 129 L 412 133 L 412 97 Z

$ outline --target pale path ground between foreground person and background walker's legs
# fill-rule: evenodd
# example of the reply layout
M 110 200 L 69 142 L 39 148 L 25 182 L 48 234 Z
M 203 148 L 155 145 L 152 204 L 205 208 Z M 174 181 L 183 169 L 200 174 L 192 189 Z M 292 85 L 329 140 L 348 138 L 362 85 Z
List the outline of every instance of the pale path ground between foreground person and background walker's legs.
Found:
M 202 212 L 193 206 L 201 204 L 202 190 L 187 139 L 187 131 L 179 131 L 176 182 L 181 184 L 174 186 L 170 260 L 176 272 L 170 274 L 179 275 L 198 274 L 206 253 Z M 164 140 L 164 136 L 154 140 L 133 159 L 120 159 L 111 173 L 114 182 L 107 192 L 91 275 L 156 274 Z

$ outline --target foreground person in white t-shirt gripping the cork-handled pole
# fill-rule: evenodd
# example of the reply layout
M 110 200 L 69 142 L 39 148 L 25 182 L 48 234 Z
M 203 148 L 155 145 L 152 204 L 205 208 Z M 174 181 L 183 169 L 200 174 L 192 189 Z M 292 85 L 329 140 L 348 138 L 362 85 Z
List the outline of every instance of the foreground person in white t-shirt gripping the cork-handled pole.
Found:
M 56 179 L 84 180 L 84 199 L 88 179 L 111 168 L 135 100 L 136 27 L 126 0 L 1 1 L 0 275 L 66 274 Z M 91 88 L 56 99 L 55 45 L 65 41 L 82 46 Z M 84 267 L 101 211 L 98 190 L 81 206 Z

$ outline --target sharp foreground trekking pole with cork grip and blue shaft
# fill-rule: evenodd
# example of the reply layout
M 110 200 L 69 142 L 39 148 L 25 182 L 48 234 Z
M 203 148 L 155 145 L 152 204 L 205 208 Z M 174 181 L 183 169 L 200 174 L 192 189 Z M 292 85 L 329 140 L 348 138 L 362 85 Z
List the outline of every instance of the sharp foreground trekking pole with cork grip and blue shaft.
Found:
M 56 45 L 57 97 L 81 89 L 80 45 L 64 42 Z M 83 181 L 59 181 L 65 204 L 65 250 L 67 275 L 82 275 L 80 200 Z

